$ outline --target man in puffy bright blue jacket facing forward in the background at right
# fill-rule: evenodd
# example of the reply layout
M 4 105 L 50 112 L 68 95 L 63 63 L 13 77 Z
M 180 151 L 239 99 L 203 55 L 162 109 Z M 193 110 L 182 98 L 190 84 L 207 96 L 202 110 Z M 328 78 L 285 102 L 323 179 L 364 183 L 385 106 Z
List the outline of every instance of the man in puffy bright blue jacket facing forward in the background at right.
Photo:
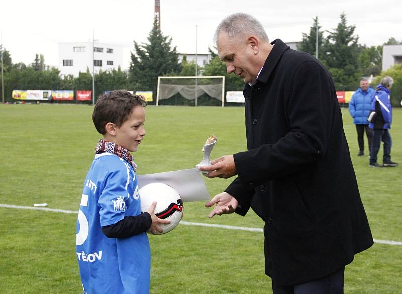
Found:
M 353 93 L 349 102 L 349 112 L 353 117 L 353 123 L 356 125 L 357 142 L 359 144 L 359 153 L 357 156 L 364 155 L 364 131 L 366 131 L 368 140 L 368 150 L 371 151 L 373 131 L 368 127 L 367 117 L 370 113 L 371 96 L 374 89 L 371 88 L 366 79 L 360 81 L 360 88 Z

